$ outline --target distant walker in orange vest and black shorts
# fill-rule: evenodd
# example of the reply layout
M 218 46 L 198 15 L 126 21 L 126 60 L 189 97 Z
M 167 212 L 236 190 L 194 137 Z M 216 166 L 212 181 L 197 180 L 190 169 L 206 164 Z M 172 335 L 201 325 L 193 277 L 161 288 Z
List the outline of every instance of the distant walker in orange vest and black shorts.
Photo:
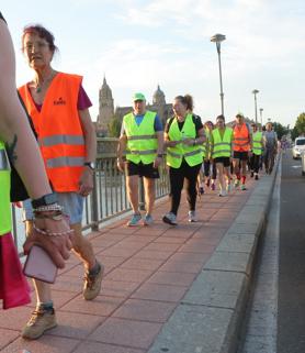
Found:
M 242 114 L 236 115 L 236 123 L 233 126 L 233 167 L 236 175 L 235 187 L 240 185 L 241 190 L 246 190 L 247 163 L 250 150 L 252 148 L 252 135 L 250 126 L 245 122 Z M 240 166 L 241 170 L 240 170 Z

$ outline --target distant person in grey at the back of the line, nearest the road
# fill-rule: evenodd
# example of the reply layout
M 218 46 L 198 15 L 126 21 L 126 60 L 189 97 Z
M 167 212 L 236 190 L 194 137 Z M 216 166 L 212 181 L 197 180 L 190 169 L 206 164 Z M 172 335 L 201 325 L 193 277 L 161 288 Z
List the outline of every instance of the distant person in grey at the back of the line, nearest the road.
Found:
M 271 174 L 274 166 L 275 155 L 278 153 L 278 135 L 274 130 L 272 130 L 272 123 L 268 122 L 266 125 L 266 132 L 263 133 L 263 161 L 264 169 L 267 174 Z

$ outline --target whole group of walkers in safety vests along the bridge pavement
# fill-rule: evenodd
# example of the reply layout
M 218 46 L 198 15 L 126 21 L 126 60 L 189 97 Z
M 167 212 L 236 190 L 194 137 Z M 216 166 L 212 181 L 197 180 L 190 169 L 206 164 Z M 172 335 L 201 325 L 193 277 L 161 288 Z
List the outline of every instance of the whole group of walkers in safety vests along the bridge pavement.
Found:
M 25 253 L 34 243 L 38 244 L 58 267 L 64 267 L 72 250 L 84 267 L 83 299 L 92 300 L 100 294 L 104 267 L 81 233 L 83 199 L 93 188 L 97 153 L 95 131 L 88 110 L 91 101 L 82 87 L 82 77 L 55 70 L 52 60 L 57 47 L 53 34 L 42 25 L 26 26 L 22 48 L 34 77 L 19 88 L 18 96 L 13 46 L 1 12 L 0 47 L 0 299 L 5 309 L 30 301 L 11 235 L 11 164 L 29 192 L 29 199 L 22 200 L 27 236 Z M 145 96 L 137 92 L 133 97 L 133 111 L 123 118 L 117 168 L 126 174 L 133 209 L 129 227 L 154 222 L 155 179 L 159 177 L 165 151 L 171 202 L 162 221 L 170 225 L 177 225 L 184 184 L 189 221 L 194 222 L 197 194 L 204 192 L 204 186 L 215 190 L 216 175 L 221 197 L 231 190 L 233 181 L 236 187 L 241 183 L 245 190 L 250 151 L 256 179 L 260 167 L 257 156 L 262 154 L 263 146 L 269 156 L 273 153 L 272 130 L 267 129 L 264 143 L 261 132 L 253 126 L 252 133 L 242 114 L 237 114 L 234 128 L 226 126 L 225 118 L 219 115 L 213 129 L 211 121 L 203 124 L 193 113 L 191 96 L 177 96 L 172 108 L 173 117 L 163 129 L 157 113 L 146 109 Z M 268 170 L 272 170 L 272 163 L 268 164 Z M 144 218 L 138 202 L 139 177 L 144 178 L 145 188 Z M 36 308 L 22 330 L 25 339 L 37 339 L 57 324 L 50 286 L 34 280 L 34 288 Z

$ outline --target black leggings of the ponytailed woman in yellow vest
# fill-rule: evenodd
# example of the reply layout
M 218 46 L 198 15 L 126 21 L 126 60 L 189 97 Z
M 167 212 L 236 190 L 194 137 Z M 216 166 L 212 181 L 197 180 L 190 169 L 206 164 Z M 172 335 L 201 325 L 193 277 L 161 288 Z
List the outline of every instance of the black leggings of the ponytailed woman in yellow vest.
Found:
M 185 159 L 179 168 L 169 167 L 170 180 L 170 197 L 171 197 L 171 212 L 178 213 L 180 206 L 181 191 L 183 189 L 184 178 L 187 179 L 187 194 L 190 211 L 194 211 L 196 207 L 196 180 L 202 164 L 190 167 Z

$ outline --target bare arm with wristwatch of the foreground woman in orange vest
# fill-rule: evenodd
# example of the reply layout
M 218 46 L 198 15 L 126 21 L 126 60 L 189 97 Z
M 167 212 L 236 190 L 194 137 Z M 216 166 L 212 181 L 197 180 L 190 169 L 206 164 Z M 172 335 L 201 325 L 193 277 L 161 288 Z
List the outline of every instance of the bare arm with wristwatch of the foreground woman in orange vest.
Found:
M 79 119 L 83 132 L 86 157 L 84 163 L 95 162 L 97 158 L 97 135 L 95 129 L 91 121 L 89 109 L 79 110 Z M 84 166 L 79 180 L 79 194 L 88 196 L 93 189 L 93 169 Z

